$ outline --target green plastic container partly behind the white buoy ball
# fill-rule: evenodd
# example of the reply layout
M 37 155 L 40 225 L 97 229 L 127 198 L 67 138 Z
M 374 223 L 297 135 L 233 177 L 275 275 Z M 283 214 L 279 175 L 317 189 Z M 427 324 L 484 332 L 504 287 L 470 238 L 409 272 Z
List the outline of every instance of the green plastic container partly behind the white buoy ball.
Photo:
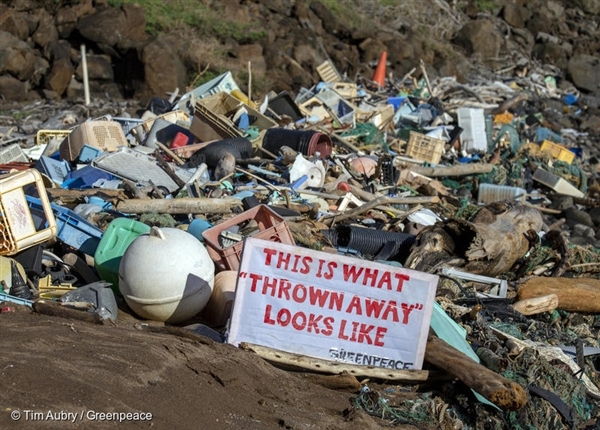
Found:
M 115 294 L 121 294 L 119 265 L 123 254 L 138 236 L 149 232 L 149 225 L 128 218 L 115 218 L 106 228 L 94 254 L 94 265 L 100 279 L 112 284 Z

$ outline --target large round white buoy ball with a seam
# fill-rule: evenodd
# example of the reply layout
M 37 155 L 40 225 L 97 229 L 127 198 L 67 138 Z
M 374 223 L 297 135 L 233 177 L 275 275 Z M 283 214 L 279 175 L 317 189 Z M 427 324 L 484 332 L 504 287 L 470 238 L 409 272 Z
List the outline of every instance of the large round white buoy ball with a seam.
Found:
M 198 314 L 213 290 L 215 266 L 204 245 L 176 228 L 152 227 L 125 250 L 119 289 L 138 316 L 178 323 Z

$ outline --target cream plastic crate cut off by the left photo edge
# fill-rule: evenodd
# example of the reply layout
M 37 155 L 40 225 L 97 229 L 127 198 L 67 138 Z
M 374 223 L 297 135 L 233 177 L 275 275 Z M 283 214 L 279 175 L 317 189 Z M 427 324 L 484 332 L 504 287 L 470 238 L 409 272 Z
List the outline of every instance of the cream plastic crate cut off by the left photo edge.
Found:
M 47 223 L 38 227 L 29 211 L 24 187 L 34 185 L 40 196 L 40 211 Z M 42 175 L 35 169 L 0 176 L 0 255 L 13 255 L 26 248 L 53 241 L 57 226 Z

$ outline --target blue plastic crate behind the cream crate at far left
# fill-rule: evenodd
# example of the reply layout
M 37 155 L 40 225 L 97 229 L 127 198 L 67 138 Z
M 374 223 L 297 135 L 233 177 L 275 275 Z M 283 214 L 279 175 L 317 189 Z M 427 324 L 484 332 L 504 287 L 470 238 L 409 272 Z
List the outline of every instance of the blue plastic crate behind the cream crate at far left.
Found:
M 36 225 L 45 225 L 46 217 L 40 199 L 26 196 Z M 57 238 L 84 254 L 94 255 L 104 232 L 70 209 L 50 203 L 58 227 Z

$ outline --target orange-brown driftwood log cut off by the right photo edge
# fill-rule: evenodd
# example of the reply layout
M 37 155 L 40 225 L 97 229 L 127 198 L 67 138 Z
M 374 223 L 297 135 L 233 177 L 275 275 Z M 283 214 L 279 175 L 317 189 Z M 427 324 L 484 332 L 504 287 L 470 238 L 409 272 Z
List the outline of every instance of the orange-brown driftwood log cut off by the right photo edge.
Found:
M 569 312 L 600 312 L 600 280 L 592 278 L 546 278 L 536 276 L 528 279 L 517 290 L 519 300 L 555 294 L 557 309 Z

